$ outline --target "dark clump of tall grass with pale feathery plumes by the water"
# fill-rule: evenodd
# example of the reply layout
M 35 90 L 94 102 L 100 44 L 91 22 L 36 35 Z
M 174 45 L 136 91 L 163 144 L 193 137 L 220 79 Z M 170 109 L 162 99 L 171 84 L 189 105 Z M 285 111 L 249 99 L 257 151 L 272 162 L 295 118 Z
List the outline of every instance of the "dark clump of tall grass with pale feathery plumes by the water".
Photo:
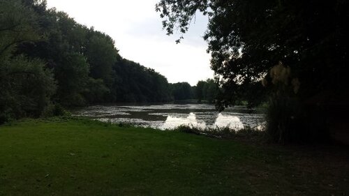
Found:
M 320 133 L 325 133 L 320 130 L 325 128 L 325 110 L 318 114 L 314 112 L 316 107 L 306 110 L 298 95 L 300 82 L 297 77 L 292 78 L 290 67 L 279 63 L 270 70 L 270 78 L 272 93 L 266 116 L 269 139 L 280 144 L 319 142 Z M 262 83 L 266 86 L 268 82 Z

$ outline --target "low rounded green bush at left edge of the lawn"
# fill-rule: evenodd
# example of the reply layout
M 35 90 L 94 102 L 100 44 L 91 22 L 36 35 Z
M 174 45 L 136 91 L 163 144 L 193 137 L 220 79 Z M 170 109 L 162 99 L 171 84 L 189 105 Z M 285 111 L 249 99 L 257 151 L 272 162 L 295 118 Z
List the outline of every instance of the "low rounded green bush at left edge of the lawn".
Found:
M 0 65 L 0 123 L 40 116 L 56 88 L 50 70 L 38 59 L 16 56 Z

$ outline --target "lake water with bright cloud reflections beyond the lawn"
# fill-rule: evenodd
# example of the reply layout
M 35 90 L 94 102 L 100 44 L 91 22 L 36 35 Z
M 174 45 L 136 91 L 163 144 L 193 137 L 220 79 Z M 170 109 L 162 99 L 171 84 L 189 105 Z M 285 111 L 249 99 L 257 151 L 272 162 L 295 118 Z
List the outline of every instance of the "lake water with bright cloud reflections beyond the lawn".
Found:
M 240 130 L 247 126 L 262 129 L 264 117 L 262 113 L 245 107 L 231 107 L 217 112 L 214 105 L 208 104 L 96 105 L 75 110 L 73 114 L 161 130 L 181 125 L 202 129 L 229 127 Z

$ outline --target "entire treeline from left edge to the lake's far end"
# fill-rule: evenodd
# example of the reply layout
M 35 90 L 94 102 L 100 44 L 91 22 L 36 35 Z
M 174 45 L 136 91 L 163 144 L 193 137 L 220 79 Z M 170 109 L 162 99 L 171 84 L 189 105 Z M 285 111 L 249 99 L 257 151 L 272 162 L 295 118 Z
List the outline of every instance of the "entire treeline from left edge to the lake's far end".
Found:
M 114 40 L 46 1 L 0 0 L 0 123 L 47 106 L 212 100 L 213 80 L 169 84 L 119 55 Z

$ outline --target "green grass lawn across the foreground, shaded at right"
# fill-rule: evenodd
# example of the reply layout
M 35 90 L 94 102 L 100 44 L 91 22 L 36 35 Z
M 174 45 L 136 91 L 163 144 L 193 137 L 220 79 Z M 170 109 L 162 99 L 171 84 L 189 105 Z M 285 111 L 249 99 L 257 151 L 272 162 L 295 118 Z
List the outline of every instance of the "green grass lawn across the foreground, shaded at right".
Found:
M 306 150 L 304 150 L 306 149 Z M 84 119 L 0 126 L 0 195 L 348 195 L 346 151 Z

